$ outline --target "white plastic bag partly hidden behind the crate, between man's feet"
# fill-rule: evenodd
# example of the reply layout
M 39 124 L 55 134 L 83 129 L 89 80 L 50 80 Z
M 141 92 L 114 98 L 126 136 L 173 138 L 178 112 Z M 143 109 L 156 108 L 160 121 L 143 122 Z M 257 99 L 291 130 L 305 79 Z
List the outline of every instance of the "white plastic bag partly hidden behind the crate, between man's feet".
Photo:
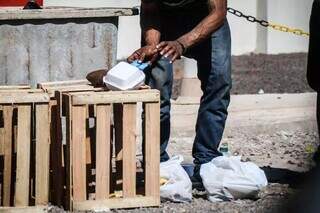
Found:
M 160 186 L 161 199 L 174 202 L 192 201 L 192 183 L 181 166 L 183 157 L 175 156 L 160 164 L 160 177 L 166 179 L 166 183 Z

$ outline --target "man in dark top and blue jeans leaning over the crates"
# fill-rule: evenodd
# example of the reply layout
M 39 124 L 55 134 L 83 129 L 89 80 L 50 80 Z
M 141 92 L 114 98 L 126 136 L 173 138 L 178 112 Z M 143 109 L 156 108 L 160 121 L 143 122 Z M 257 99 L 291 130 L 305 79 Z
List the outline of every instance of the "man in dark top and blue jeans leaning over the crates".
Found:
M 169 159 L 172 63 L 181 56 L 197 61 L 203 96 L 192 153 L 199 181 L 201 164 L 221 155 L 218 146 L 230 102 L 231 38 L 226 14 L 227 0 L 142 0 L 142 48 L 128 58 L 153 63 L 146 83 L 161 93 L 161 162 Z

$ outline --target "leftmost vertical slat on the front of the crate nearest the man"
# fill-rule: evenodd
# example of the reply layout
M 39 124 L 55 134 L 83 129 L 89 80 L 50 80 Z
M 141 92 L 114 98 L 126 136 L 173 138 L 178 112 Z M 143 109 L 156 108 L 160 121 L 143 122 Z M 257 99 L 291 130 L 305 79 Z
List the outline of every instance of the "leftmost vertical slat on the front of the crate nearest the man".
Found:
M 73 199 L 84 201 L 86 195 L 86 106 L 72 107 Z

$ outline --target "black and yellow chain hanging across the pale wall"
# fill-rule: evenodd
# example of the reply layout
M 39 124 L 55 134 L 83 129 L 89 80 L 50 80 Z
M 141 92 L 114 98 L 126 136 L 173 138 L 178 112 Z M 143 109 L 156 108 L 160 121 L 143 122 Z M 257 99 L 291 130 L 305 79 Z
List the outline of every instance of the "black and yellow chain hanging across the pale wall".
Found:
M 309 33 L 301 30 L 301 29 L 294 29 L 294 28 L 290 28 L 288 26 L 284 26 L 284 25 L 280 25 L 280 24 L 275 24 L 275 23 L 269 23 L 266 20 L 263 19 L 257 19 L 254 16 L 250 16 L 250 15 L 245 15 L 243 14 L 241 11 L 233 9 L 231 7 L 228 7 L 228 12 L 240 17 L 240 18 L 245 18 L 247 21 L 252 22 L 252 23 L 258 23 L 263 27 L 271 27 L 274 30 L 278 30 L 281 32 L 287 32 L 287 33 L 293 33 L 295 35 L 299 35 L 299 36 L 305 36 L 308 37 Z

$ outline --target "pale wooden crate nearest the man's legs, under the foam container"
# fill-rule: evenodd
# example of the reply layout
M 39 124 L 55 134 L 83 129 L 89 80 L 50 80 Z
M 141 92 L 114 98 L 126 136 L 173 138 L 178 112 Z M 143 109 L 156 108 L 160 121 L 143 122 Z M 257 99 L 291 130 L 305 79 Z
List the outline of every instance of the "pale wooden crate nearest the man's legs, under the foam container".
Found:
M 107 208 L 134 208 L 160 205 L 160 94 L 157 90 L 125 92 L 80 92 L 63 94 L 67 116 L 67 179 L 71 208 L 87 211 Z M 145 109 L 144 184 L 136 185 L 137 103 Z M 88 116 L 95 117 L 94 199 L 89 198 L 87 180 Z M 115 126 L 116 173 L 112 168 L 112 113 Z M 119 165 L 121 164 L 121 166 Z M 120 178 L 122 195 L 112 198 L 114 178 Z

